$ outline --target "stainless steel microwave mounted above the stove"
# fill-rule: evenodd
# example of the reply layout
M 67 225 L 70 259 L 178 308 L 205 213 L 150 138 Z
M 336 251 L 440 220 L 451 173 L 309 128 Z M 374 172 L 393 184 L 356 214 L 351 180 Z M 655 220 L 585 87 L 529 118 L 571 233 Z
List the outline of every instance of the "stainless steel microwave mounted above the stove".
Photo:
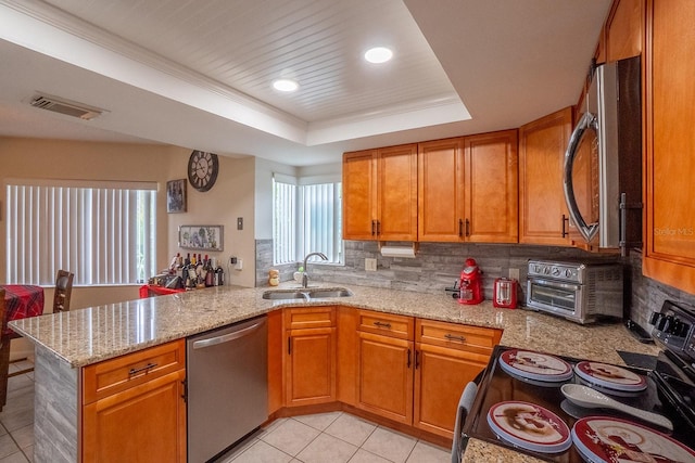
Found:
M 639 56 L 596 67 L 565 154 L 571 224 L 596 248 L 642 240 L 640 74 Z

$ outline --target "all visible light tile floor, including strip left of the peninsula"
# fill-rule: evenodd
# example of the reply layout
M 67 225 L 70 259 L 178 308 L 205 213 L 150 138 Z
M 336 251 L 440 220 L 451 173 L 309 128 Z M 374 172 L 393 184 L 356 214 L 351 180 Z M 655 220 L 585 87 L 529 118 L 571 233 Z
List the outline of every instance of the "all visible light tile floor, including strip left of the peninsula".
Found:
M 10 364 L 10 373 L 30 368 Z M 0 412 L 0 463 L 33 461 L 34 373 L 8 381 Z M 280 419 L 240 442 L 218 463 L 448 463 L 448 449 L 343 412 Z

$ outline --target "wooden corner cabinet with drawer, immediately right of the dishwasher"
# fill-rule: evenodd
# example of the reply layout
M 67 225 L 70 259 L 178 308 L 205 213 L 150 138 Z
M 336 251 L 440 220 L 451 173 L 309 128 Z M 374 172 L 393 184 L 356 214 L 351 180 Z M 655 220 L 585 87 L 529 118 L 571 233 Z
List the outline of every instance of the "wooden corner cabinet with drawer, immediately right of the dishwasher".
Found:
M 286 311 L 285 320 L 286 327 L 289 327 L 285 363 L 286 406 L 309 406 L 334 401 L 337 397 L 334 308 L 289 309 Z

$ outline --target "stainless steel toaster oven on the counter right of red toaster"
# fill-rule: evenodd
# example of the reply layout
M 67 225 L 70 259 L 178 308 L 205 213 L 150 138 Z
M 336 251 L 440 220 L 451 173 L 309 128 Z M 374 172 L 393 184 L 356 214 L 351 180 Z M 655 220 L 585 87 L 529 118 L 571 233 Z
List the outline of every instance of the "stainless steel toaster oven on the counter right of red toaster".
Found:
M 529 260 L 527 307 L 578 323 L 622 318 L 622 266 Z

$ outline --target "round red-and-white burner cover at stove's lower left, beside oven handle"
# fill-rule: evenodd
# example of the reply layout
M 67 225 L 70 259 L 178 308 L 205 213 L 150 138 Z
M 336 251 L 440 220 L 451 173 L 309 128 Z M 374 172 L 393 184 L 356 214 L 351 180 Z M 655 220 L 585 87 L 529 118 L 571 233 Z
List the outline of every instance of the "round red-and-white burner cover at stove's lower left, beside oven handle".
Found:
M 501 439 L 534 452 L 559 453 L 572 445 L 567 424 L 552 411 L 534 403 L 495 403 L 488 412 L 488 424 Z

